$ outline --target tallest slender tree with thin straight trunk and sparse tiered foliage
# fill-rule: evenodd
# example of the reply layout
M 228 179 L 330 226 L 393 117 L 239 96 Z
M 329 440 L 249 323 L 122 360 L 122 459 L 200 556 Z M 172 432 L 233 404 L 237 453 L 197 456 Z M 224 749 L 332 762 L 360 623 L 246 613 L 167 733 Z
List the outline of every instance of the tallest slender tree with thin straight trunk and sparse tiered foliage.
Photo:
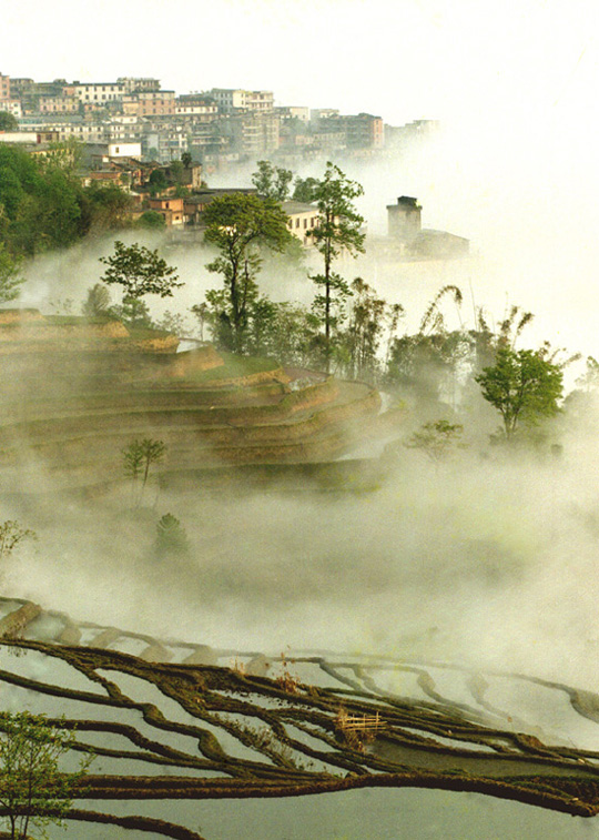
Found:
M 317 289 L 315 305 L 322 311 L 325 334 L 326 370 L 331 367 L 332 304 L 334 297 L 346 297 L 349 289 L 345 281 L 333 271 L 334 261 L 342 252 L 356 256 L 364 252 L 362 225 L 364 217 L 353 202 L 364 192 L 363 188 L 328 162 L 325 175 L 315 190 L 318 208 L 318 223 L 311 232 L 316 250 L 322 254 L 324 272 L 311 276 Z

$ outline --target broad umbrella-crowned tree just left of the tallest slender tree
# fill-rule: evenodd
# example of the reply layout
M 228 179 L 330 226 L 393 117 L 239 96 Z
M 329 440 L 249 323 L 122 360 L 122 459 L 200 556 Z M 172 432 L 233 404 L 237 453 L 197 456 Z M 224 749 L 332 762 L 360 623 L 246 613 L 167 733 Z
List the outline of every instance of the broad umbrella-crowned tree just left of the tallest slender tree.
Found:
M 206 265 L 223 275 L 224 289 L 211 290 L 206 301 L 220 322 L 221 343 L 243 353 L 253 307 L 260 294 L 256 276 L 261 249 L 282 252 L 291 240 L 287 216 L 272 199 L 233 193 L 215 199 L 204 211 L 205 240 L 219 256 Z

